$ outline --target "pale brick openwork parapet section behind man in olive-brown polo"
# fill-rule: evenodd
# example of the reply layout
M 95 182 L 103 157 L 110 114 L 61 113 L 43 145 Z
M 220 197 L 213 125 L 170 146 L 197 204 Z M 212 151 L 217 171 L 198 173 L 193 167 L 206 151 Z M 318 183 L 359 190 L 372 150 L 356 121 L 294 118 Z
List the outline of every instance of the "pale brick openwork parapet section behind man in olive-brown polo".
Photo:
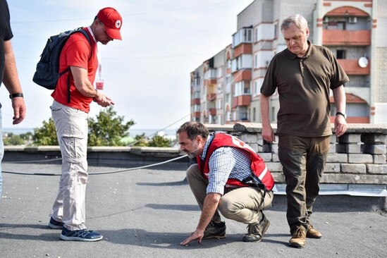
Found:
M 271 126 L 276 133 L 276 125 Z M 276 183 L 285 183 L 277 155 L 278 138 L 273 143 L 264 142 L 262 124 L 207 125 L 207 128 L 246 142 L 264 159 Z M 333 134 L 321 183 L 387 185 L 386 135 L 387 125 L 372 124 L 348 124 L 345 135 Z

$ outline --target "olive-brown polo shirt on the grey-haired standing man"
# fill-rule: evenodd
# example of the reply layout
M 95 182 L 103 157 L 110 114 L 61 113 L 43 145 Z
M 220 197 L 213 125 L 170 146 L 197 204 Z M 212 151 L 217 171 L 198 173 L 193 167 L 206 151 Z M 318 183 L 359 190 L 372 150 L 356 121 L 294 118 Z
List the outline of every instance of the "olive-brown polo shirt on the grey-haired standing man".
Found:
M 261 93 L 269 97 L 278 90 L 280 109 L 277 133 L 301 137 L 332 134 L 329 90 L 348 76 L 326 47 L 311 44 L 300 58 L 288 49 L 276 54 L 269 64 Z

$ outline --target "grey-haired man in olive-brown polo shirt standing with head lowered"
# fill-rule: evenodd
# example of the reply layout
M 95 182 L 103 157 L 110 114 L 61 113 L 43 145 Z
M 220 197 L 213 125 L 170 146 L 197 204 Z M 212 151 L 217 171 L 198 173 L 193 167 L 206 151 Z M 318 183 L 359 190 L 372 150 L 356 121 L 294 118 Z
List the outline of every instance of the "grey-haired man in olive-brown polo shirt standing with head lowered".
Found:
M 271 60 L 261 88 L 262 137 L 268 142 L 275 140 L 269 98 L 278 90 L 278 158 L 286 181 L 289 243 L 304 247 L 305 238 L 321 238 L 310 216 L 332 135 L 329 92 L 333 91 L 338 111 L 335 130 L 340 136 L 347 130 L 343 84 L 349 79 L 329 49 L 309 42 L 304 17 L 285 18 L 281 32 L 287 49 Z

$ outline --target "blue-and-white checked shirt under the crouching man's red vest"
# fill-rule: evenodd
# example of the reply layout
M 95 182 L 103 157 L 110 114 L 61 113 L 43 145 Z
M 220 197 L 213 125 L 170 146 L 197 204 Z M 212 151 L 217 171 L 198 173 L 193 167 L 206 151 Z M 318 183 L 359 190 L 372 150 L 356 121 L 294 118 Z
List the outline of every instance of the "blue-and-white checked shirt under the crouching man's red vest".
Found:
M 204 162 L 205 156 L 214 135 L 209 135 L 200 159 Z M 224 186 L 228 178 L 244 180 L 250 176 L 250 154 L 234 147 L 220 147 L 209 157 L 209 192 L 224 193 Z

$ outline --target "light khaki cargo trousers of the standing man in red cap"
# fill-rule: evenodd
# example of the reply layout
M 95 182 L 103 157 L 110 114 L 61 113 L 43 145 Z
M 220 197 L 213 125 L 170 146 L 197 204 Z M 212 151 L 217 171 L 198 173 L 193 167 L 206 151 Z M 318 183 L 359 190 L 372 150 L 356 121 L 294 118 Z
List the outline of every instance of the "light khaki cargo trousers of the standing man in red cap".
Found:
M 85 229 L 88 114 L 55 101 L 51 113 L 62 155 L 62 175 L 51 216 L 63 221 L 70 231 Z

